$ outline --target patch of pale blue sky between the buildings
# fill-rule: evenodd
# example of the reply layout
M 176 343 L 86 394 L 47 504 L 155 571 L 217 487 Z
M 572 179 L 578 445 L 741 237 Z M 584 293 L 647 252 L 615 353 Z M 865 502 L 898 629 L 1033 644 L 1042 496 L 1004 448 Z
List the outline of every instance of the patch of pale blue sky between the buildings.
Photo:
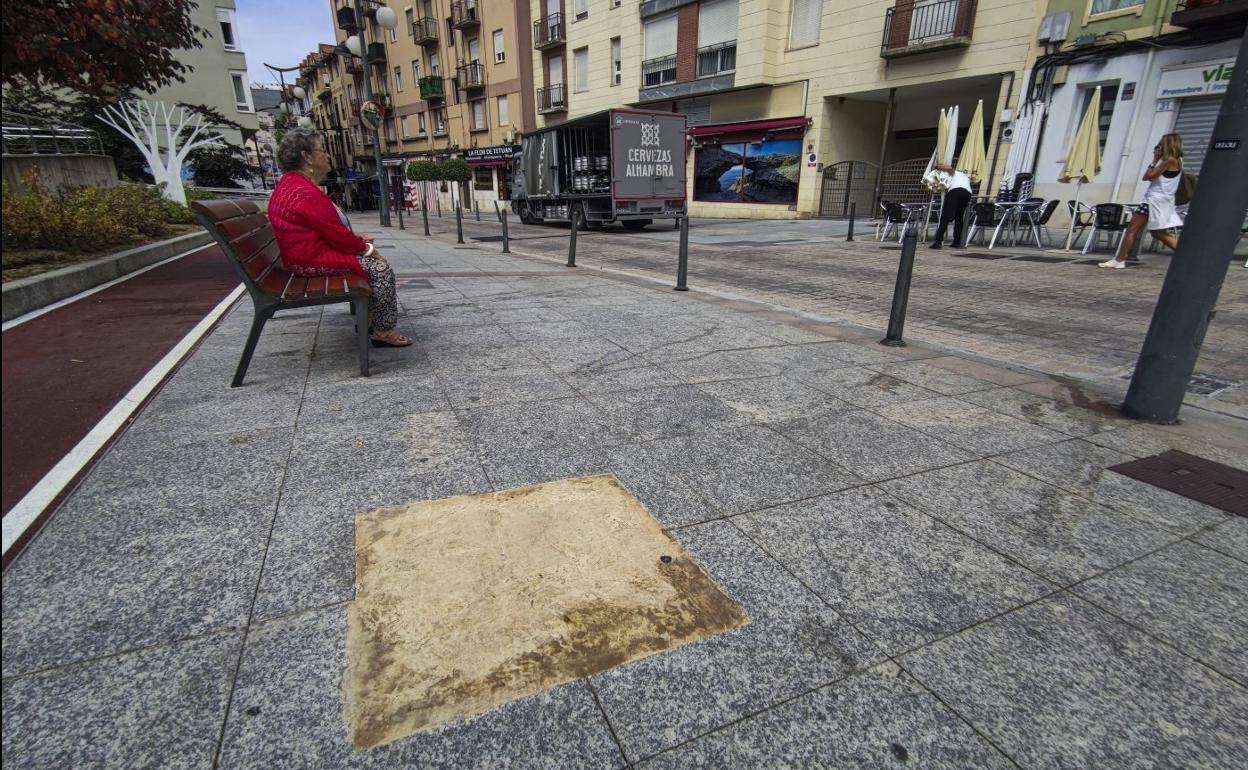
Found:
M 334 21 L 328 0 L 235 0 L 238 39 L 247 55 L 252 82 L 277 82 L 265 62 L 293 67 L 316 50 L 334 42 Z M 295 72 L 286 75 L 286 82 Z

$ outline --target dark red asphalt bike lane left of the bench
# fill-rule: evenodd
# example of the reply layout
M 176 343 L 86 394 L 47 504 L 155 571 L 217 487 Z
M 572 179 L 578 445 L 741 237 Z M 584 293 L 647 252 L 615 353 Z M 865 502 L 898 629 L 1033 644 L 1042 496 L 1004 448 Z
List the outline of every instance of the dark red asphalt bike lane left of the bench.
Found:
M 206 246 L 4 332 L 4 514 L 237 286 Z

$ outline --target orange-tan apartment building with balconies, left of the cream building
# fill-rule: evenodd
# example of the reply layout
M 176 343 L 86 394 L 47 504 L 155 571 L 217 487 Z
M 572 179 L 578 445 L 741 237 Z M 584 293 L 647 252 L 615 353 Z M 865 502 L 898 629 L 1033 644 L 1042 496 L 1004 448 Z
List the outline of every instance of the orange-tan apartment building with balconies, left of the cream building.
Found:
M 381 109 L 383 163 L 463 157 L 474 170 L 470 193 L 487 207 L 508 197 L 508 161 L 519 134 L 534 127 L 529 11 L 509 0 L 364 0 L 359 29 L 353 0 L 329 0 L 337 46 L 324 61 L 327 126 L 341 126 L 349 176 L 376 173 L 372 135 L 359 121 L 363 79 Z M 386 30 L 388 6 L 398 27 Z M 363 35 L 363 56 L 344 42 Z M 341 86 L 338 85 L 341 82 Z M 316 111 L 317 107 L 313 107 Z M 337 116 L 338 122 L 329 121 Z M 449 203 L 449 200 L 447 201 Z

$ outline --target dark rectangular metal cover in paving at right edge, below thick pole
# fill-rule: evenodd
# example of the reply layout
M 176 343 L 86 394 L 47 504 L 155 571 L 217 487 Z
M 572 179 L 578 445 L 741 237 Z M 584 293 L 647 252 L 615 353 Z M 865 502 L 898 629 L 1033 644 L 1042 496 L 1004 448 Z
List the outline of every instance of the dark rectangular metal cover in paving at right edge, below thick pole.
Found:
M 1113 465 L 1109 470 L 1248 517 L 1248 472 L 1238 468 L 1172 449 Z

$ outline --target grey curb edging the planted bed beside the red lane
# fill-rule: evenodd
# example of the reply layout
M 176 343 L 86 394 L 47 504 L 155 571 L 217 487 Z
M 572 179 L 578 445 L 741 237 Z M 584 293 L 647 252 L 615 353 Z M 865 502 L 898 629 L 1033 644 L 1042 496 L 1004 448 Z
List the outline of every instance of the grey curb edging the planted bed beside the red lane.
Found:
M 4 321 L 24 316 L 149 265 L 155 265 L 173 255 L 210 243 L 212 243 L 212 236 L 207 232 L 190 232 L 167 241 L 147 243 L 99 257 L 81 265 L 71 265 L 29 278 L 10 281 L 4 285 L 2 291 Z

